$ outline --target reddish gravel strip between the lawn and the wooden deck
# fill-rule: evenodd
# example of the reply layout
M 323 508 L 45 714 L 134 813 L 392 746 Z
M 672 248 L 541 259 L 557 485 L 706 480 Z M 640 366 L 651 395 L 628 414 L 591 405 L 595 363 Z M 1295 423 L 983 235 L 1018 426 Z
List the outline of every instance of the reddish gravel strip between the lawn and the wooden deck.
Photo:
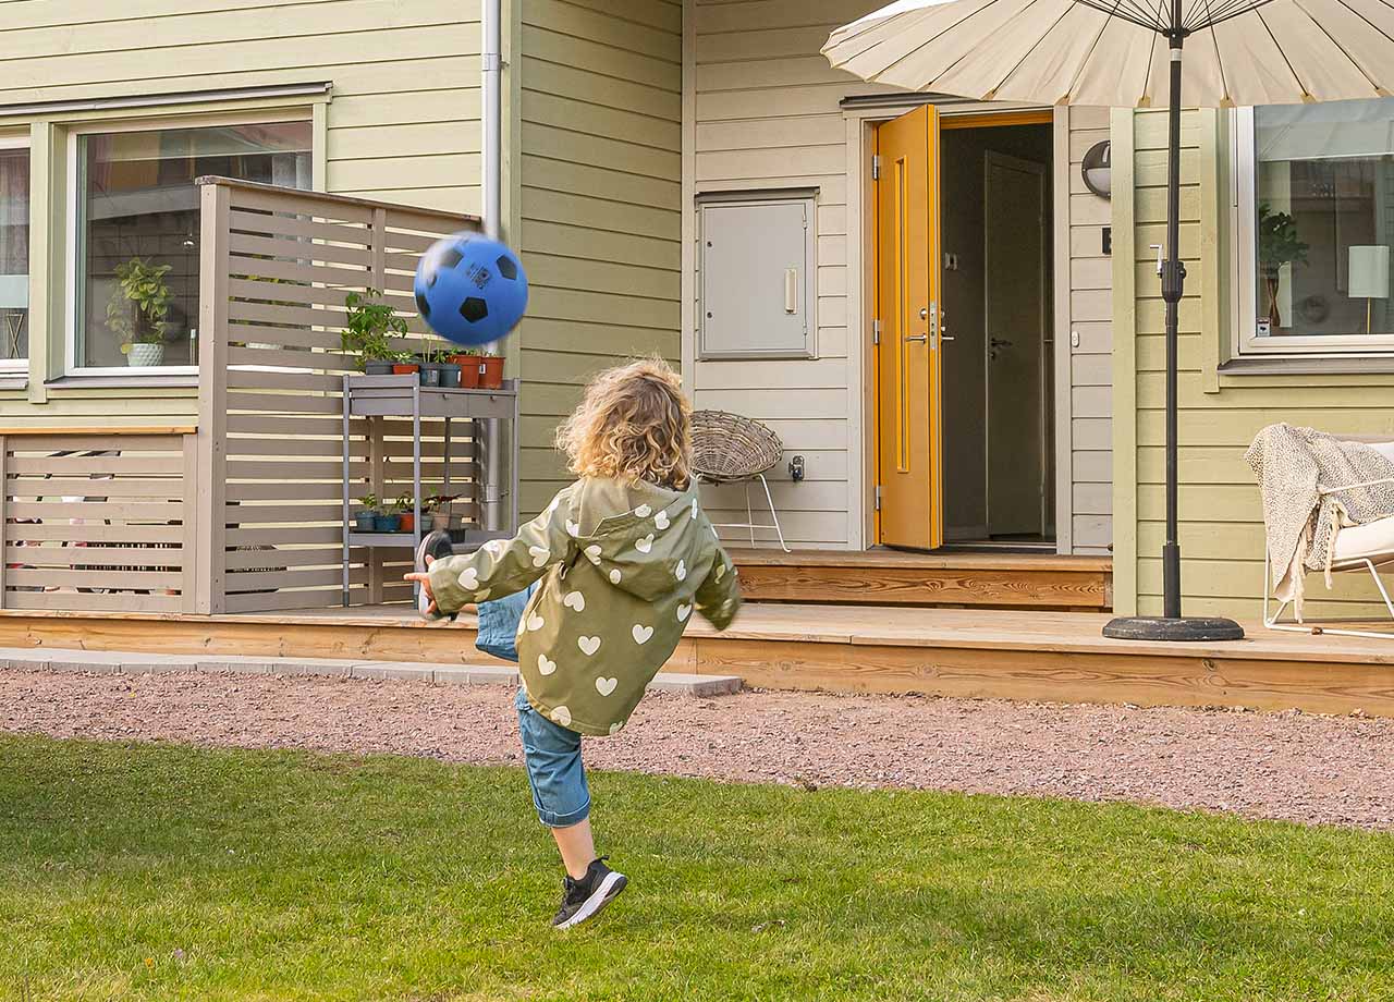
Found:
M 0 670 L 0 732 L 521 760 L 502 686 Z M 1394 828 L 1394 719 L 747 691 L 650 695 L 591 766 L 1129 800 Z M 520 794 L 521 796 L 521 794 Z

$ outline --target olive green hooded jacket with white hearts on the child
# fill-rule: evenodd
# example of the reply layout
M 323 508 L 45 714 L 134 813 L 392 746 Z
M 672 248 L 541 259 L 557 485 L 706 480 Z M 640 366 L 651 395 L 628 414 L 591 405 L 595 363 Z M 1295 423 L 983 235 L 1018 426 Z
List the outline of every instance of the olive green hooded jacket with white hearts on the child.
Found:
M 725 630 L 740 608 L 696 485 L 577 481 L 512 542 L 432 564 L 431 591 L 450 613 L 538 578 L 519 623 L 519 670 L 533 708 L 581 734 L 625 726 L 694 609 Z

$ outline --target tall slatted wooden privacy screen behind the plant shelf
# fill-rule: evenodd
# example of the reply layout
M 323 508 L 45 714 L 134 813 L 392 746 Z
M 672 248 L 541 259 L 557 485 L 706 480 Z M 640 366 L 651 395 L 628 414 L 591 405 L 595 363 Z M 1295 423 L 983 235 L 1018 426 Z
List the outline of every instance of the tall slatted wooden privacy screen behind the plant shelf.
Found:
M 350 291 L 376 288 L 407 321 L 399 350 L 442 343 L 417 316 L 417 259 L 478 220 L 365 199 L 201 178 L 199 550 L 209 559 L 199 612 L 269 612 L 342 601 L 342 353 Z M 354 419 L 351 498 L 395 498 L 411 478 L 395 422 Z M 473 475 L 466 426 L 453 479 Z M 410 422 L 406 425 L 410 438 Z M 441 428 L 424 435 L 424 477 L 442 468 Z M 406 458 L 403 458 L 406 457 Z M 372 485 L 372 486 L 369 486 Z M 467 484 L 466 489 L 473 489 Z M 424 491 L 428 493 L 429 488 Z M 406 596 L 407 552 L 354 550 L 354 602 Z

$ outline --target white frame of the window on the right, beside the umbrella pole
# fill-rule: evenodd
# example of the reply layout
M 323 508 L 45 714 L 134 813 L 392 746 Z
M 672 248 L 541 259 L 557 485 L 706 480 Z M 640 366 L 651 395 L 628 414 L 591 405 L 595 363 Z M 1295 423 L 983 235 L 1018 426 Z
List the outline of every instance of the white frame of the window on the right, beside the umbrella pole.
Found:
M 1259 337 L 1257 224 L 1259 164 L 1255 152 L 1253 109 L 1230 116 L 1230 254 L 1231 351 L 1234 358 L 1387 358 L 1394 355 L 1390 334 L 1282 334 Z

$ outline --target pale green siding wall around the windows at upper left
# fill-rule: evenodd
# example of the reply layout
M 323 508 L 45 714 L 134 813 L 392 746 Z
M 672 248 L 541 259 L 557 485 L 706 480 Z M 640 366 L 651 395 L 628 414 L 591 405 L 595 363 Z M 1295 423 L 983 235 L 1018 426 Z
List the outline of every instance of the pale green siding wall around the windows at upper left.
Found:
M 480 209 L 480 25 L 474 0 L 15 0 L 0 4 L 11 59 L 0 132 L 33 157 L 31 371 L 0 380 L 7 425 L 149 424 L 195 413 L 195 387 L 46 385 L 66 330 L 67 130 L 132 111 L 6 116 L 6 105 L 330 82 L 328 99 L 153 106 L 145 117 L 263 109 L 315 121 L 316 187 Z M 167 380 L 166 380 L 167 382 Z M 7 383 L 7 385 L 6 385 Z

